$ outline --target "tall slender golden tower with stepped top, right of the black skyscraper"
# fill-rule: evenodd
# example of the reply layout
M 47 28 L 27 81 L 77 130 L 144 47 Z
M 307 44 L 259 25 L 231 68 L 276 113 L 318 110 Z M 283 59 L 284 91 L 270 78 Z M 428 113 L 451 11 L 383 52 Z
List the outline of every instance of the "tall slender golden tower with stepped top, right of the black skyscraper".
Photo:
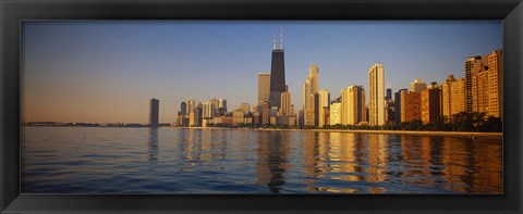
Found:
M 311 97 L 318 92 L 318 73 L 317 64 L 311 64 L 308 67 L 308 76 L 303 85 L 303 113 L 305 126 L 314 126 L 316 118 L 314 117 L 314 102 Z

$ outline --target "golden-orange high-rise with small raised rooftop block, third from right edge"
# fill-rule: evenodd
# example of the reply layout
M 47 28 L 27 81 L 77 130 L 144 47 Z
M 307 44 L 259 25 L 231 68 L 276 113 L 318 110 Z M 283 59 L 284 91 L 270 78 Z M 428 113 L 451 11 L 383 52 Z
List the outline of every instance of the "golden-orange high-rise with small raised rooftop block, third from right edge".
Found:
M 465 111 L 465 78 L 455 79 L 454 75 L 449 75 L 441 85 L 441 109 L 442 115 L 447 122 L 452 119 L 452 115 Z

